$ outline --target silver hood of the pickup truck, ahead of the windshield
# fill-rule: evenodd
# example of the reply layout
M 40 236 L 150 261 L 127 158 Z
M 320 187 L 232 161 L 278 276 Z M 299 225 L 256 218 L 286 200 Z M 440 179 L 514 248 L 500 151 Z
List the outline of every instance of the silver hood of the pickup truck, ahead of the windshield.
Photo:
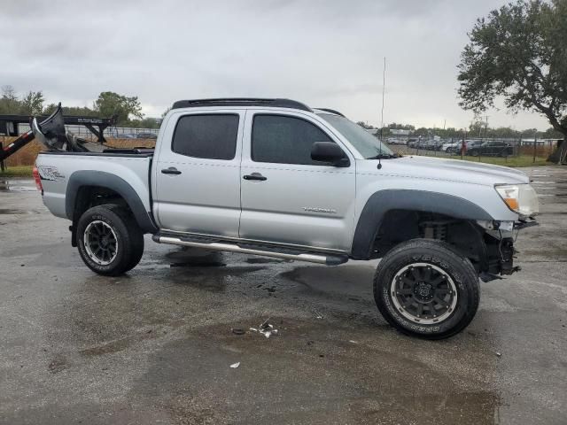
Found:
M 377 159 L 364 159 L 357 171 L 376 174 L 398 174 L 413 178 L 447 180 L 494 185 L 499 183 L 529 183 L 527 174 L 507 166 L 493 166 L 461 159 L 406 156 L 383 159 L 377 170 Z

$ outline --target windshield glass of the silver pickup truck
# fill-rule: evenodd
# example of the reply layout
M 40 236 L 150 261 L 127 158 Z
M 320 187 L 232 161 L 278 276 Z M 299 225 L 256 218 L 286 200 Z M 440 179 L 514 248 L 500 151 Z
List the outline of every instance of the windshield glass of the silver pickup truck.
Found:
M 380 154 L 382 158 L 393 156 L 392 150 L 385 143 L 380 143 L 374 135 L 369 134 L 368 131 L 361 128 L 358 124 L 354 124 L 353 121 L 331 113 L 318 113 L 317 115 L 329 122 L 334 128 L 337 128 L 340 134 L 344 135 L 353 144 L 354 148 L 360 152 L 362 157 L 366 159 L 376 158 Z M 381 151 L 380 144 L 382 144 Z

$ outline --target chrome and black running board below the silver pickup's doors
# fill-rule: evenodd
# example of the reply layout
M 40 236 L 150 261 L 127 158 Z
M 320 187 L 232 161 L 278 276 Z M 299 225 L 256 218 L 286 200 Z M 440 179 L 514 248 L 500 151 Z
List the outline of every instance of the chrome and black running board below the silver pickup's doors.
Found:
M 170 243 L 173 245 L 190 246 L 193 248 L 203 248 L 212 251 L 240 252 L 241 254 L 262 255 L 264 257 L 275 257 L 276 259 L 295 259 L 310 263 L 324 264 L 327 266 L 338 266 L 346 263 L 348 256 L 341 254 L 328 254 L 300 250 L 297 248 L 278 248 L 260 243 L 231 243 L 222 239 L 214 239 L 202 236 L 176 236 L 156 234 L 151 237 L 157 243 Z

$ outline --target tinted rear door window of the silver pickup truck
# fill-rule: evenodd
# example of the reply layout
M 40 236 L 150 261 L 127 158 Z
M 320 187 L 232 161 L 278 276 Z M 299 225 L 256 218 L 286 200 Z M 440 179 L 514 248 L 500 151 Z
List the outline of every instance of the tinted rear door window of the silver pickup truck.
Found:
M 177 121 L 171 150 L 193 158 L 234 159 L 237 114 L 185 115 Z

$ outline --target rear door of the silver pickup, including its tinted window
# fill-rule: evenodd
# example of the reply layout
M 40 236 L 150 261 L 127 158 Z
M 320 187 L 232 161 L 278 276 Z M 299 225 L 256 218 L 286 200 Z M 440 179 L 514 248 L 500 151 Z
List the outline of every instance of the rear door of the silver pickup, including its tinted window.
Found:
M 238 236 L 244 118 L 234 109 L 170 116 L 152 166 L 159 228 Z

